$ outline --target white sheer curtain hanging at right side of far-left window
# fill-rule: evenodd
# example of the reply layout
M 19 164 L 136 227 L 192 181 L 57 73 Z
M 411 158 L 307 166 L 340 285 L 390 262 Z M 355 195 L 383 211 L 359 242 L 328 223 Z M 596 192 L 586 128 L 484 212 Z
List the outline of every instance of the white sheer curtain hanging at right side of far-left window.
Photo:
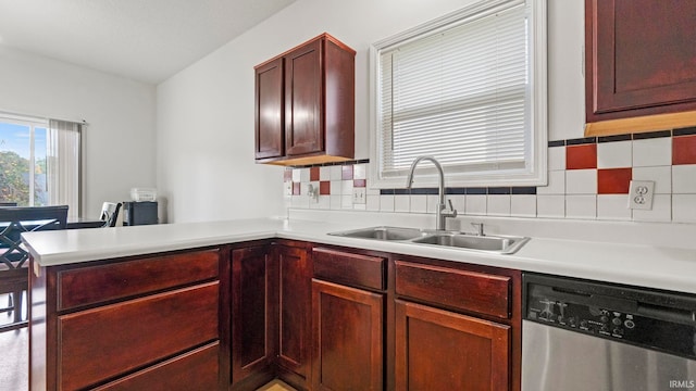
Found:
M 50 119 L 47 135 L 47 186 L 51 205 L 69 205 L 79 216 L 82 124 Z

